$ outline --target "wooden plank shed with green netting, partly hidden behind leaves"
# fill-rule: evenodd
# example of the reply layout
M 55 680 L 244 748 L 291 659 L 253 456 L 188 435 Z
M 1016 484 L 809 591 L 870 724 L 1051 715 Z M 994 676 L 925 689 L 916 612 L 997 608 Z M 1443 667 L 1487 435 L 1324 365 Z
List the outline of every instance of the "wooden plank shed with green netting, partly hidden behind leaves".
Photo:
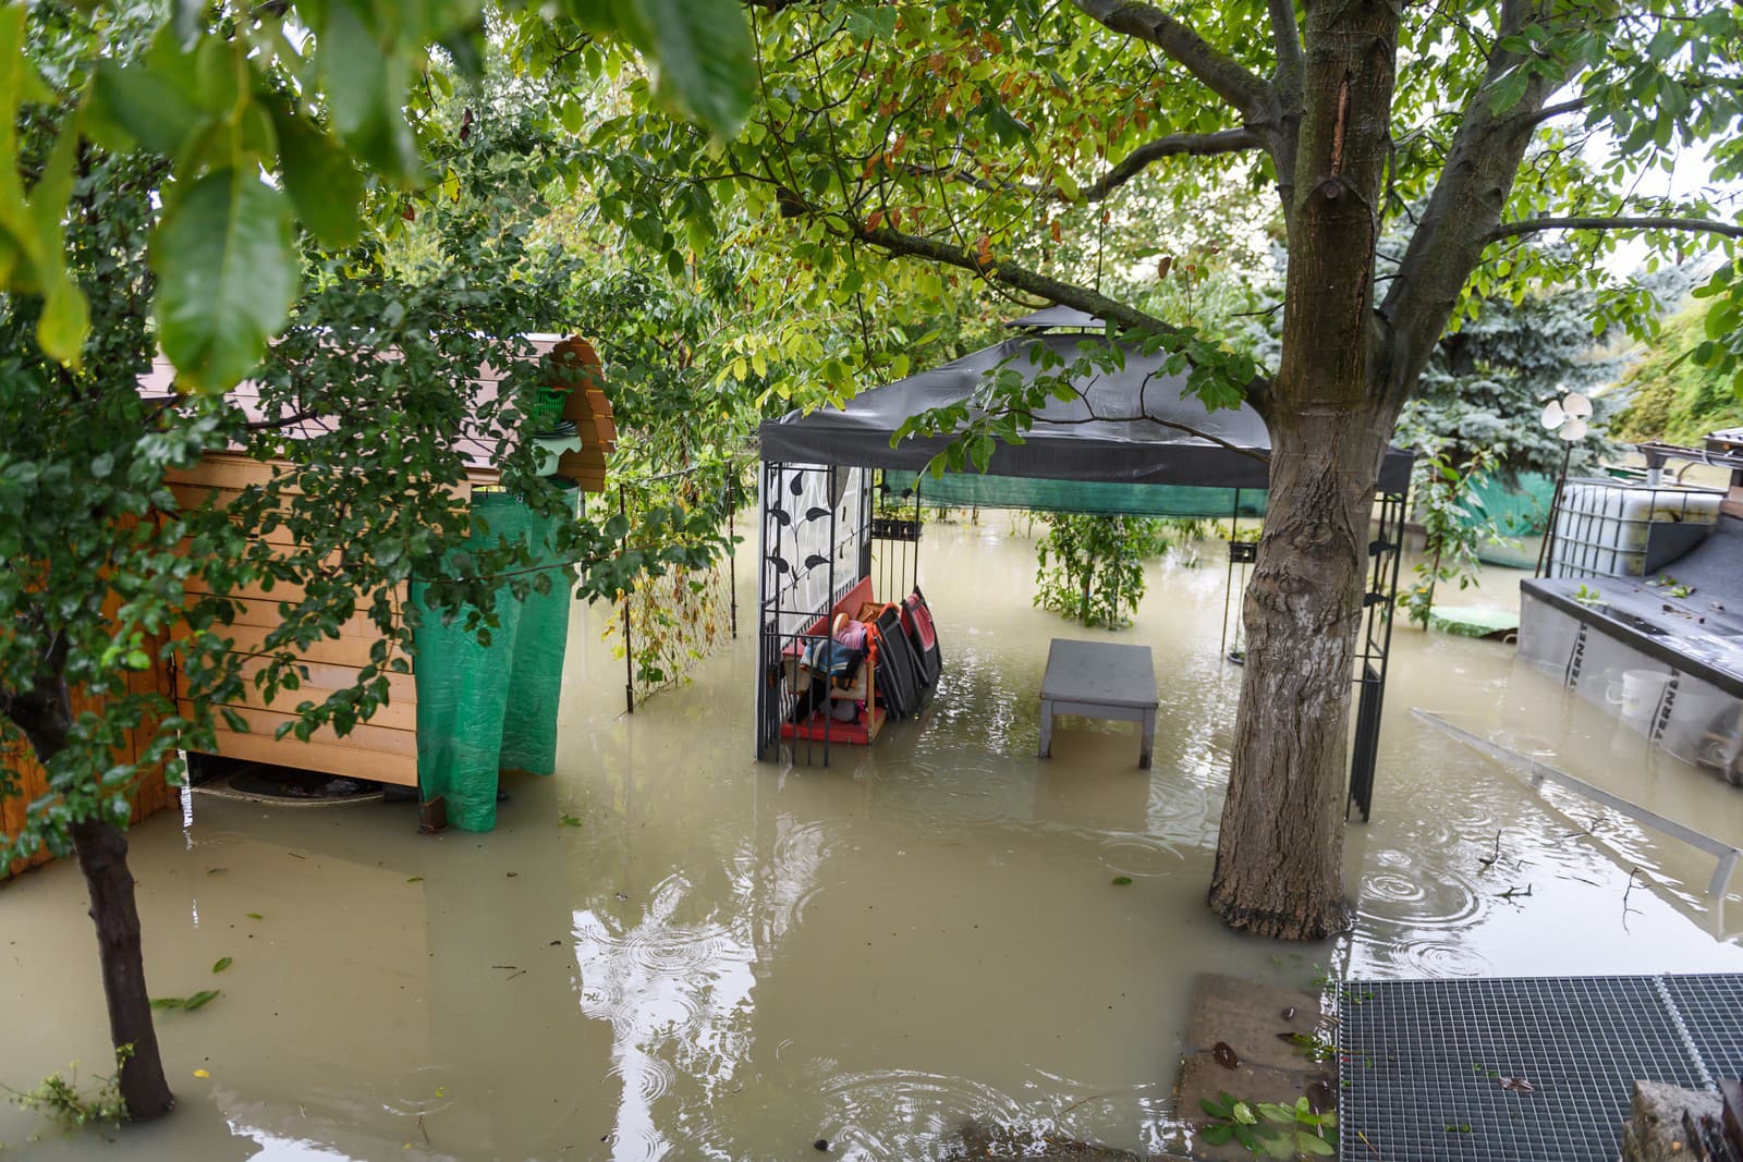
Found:
M 600 357 L 579 338 L 530 338 L 533 357 L 551 366 L 547 385 L 558 418 L 553 422 L 554 439 L 542 443 L 553 472 L 584 491 L 603 491 L 607 456 L 615 446 L 617 429 L 603 390 Z M 481 368 L 474 380 L 478 399 L 493 395 L 500 380 L 500 371 Z M 139 390 L 152 395 L 171 394 L 174 368 L 159 359 L 141 380 Z M 232 399 L 251 413 L 260 411 L 256 383 L 239 385 Z M 331 423 L 310 418 L 286 429 L 286 434 L 293 439 L 307 437 L 329 430 Z M 511 432 L 483 425 L 471 425 L 457 434 L 467 479 L 455 490 L 455 502 L 474 510 L 479 505 L 492 509 L 488 519 L 495 531 L 539 537 L 540 530 L 525 519 L 525 507 L 498 488 L 498 449 L 511 437 Z M 207 498 L 227 505 L 244 488 L 289 472 L 286 460 L 254 460 L 241 451 L 220 451 L 207 455 L 193 469 L 173 470 L 169 488 L 188 507 L 206 503 Z M 288 540 L 274 542 L 288 535 L 282 531 L 263 535 L 268 544 L 288 545 Z M 200 584 L 204 582 L 192 582 L 190 591 Z M 417 601 L 415 591 L 417 585 L 399 592 L 397 601 Z M 267 664 L 265 639 L 282 620 L 279 605 L 300 599 L 302 592 L 295 585 L 275 585 L 270 592 L 241 589 L 232 596 L 239 601 L 239 615 L 225 632 L 230 636 L 230 652 L 242 655 L 244 678 L 251 678 Z M 406 659 L 408 672 L 389 674 L 389 702 L 373 718 L 343 737 L 324 728 L 309 740 L 295 735 L 275 739 L 281 725 L 295 721 L 291 707 L 296 702 L 322 700 L 328 693 L 354 685 L 359 669 L 370 664 L 382 634 L 368 615 L 359 613 L 340 627 L 338 636 L 300 652 L 300 690 L 284 692 L 267 706 L 260 692 L 244 683 L 242 702 L 223 709 L 235 713 L 248 730 L 234 730 L 220 721 L 216 753 L 418 787 L 425 800 L 446 800 L 450 822 L 488 829 L 495 821 L 498 765 L 539 774 L 551 770 L 556 688 L 561 683 L 570 605 L 565 587 L 554 587 L 547 598 L 512 603 L 514 608 L 493 632 L 490 648 L 462 641 L 458 629 L 420 629 L 418 657 Z

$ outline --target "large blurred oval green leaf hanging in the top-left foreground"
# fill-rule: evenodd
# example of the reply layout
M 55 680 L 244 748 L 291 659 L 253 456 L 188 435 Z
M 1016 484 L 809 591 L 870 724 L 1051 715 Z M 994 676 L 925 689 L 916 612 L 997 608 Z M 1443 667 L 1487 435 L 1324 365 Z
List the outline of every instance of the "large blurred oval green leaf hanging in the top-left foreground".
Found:
M 157 336 L 180 380 L 200 392 L 234 387 L 296 298 L 289 199 L 237 169 L 206 174 L 173 197 L 152 268 Z

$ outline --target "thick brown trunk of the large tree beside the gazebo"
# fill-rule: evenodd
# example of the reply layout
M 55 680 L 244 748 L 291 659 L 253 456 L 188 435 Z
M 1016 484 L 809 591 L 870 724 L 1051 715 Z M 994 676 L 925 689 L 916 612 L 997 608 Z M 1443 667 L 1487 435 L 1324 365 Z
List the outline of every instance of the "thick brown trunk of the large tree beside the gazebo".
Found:
M 1321 939 L 1344 904 L 1346 728 L 1361 573 L 1396 408 L 1377 341 L 1373 256 L 1391 152 L 1398 10 L 1307 0 L 1302 120 L 1285 186 L 1283 359 L 1265 535 L 1248 589 L 1246 674 L 1210 902 L 1238 929 Z

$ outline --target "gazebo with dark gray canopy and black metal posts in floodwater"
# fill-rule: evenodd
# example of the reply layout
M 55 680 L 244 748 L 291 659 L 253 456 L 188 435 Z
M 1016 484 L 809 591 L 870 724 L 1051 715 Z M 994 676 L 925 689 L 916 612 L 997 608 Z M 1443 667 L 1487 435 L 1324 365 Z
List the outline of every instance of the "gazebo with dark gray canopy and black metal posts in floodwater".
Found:
M 931 371 L 861 392 L 842 408 L 790 413 L 762 425 L 756 756 L 783 740 L 795 756 L 821 746 L 870 742 L 877 699 L 863 723 L 812 713 L 805 660 L 830 650 L 840 611 L 899 603 L 915 587 L 924 486 L 950 505 L 1145 516 L 1260 516 L 1271 437 L 1248 406 L 1208 409 L 1187 394 L 1168 352 L 1109 340 L 1082 312 L 1048 308 L 1009 324 L 1013 334 Z M 985 415 L 994 378 L 1068 383 L 1034 411 L 1023 443 L 999 443 L 985 470 L 926 470 L 950 434 L 896 439 L 910 416 L 950 406 Z M 1058 395 L 1068 395 L 1065 399 Z M 1386 657 L 1403 537 L 1407 451 L 1380 465 L 1375 537 L 1356 672 L 1360 686 L 1349 801 L 1368 817 L 1379 747 Z M 899 500 L 894 500 L 898 498 Z M 912 502 L 912 507 L 908 507 Z M 873 542 L 891 551 L 873 561 Z M 1231 554 L 1251 545 L 1231 544 Z M 873 578 L 873 568 L 878 577 Z

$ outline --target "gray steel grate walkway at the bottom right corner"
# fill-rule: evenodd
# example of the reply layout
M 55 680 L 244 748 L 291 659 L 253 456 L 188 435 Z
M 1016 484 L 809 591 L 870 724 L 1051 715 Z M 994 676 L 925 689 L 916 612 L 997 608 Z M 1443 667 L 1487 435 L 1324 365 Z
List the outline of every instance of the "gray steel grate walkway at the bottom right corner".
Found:
M 1347 981 L 1339 1157 L 1614 1162 L 1635 1080 L 1743 1073 L 1743 974 Z

